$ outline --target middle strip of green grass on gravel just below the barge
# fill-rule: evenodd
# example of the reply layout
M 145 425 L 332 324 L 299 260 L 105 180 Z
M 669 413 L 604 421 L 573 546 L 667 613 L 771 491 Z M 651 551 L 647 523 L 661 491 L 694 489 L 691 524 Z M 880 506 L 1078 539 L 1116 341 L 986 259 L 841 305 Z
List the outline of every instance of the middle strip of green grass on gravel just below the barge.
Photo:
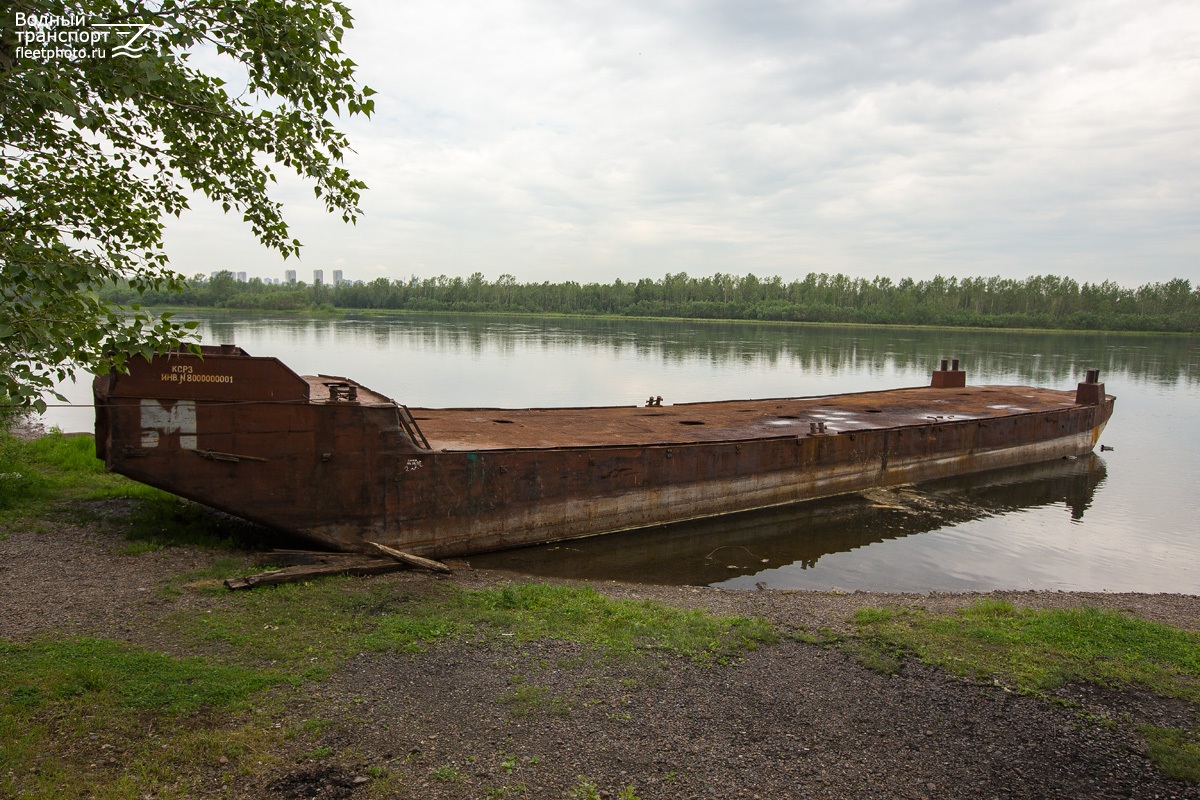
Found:
M 331 578 L 217 595 L 210 613 L 174 618 L 182 640 L 228 645 L 247 667 L 316 675 L 362 650 L 420 652 L 439 639 L 490 637 L 578 642 L 611 656 L 671 652 L 726 661 L 773 642 L 762 620 L 719 618 L 643 601 L 612 600 L 587 587 L 512 584 L 412 594 L 388 582 Z

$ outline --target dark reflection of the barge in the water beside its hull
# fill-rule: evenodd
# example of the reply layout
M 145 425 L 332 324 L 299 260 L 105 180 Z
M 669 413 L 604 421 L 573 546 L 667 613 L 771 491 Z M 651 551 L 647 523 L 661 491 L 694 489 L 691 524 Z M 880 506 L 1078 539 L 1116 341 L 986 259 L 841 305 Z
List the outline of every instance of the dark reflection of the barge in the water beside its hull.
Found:
M 480 569 L 542 577 L 679 585 L 770 587 L 780 569 L 818 571 L 822 558 L 961 523 L 1063 506 L 1081 521 L 1105 479 L 1088 453 L 914 486 L 578 539 L 469 558 Z M 794 579 L 782 582 L 794 584 Z M 990 588 L 990 587 L 980 587 Z

